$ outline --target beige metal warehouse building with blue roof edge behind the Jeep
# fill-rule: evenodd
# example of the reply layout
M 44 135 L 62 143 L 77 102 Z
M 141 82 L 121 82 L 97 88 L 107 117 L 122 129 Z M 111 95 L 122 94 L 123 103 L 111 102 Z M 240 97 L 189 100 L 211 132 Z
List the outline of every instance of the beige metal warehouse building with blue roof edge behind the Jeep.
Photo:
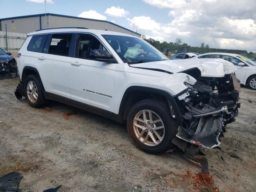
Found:
M 56 27 L 87 27 L 89 29 L 122 32 L 140 37 L 141 34 L 133 32 L 115 23 L 59 14 L 37 14 L 11 18 L 0 18 L 0 31 L 27 34 L 40 29 Z

